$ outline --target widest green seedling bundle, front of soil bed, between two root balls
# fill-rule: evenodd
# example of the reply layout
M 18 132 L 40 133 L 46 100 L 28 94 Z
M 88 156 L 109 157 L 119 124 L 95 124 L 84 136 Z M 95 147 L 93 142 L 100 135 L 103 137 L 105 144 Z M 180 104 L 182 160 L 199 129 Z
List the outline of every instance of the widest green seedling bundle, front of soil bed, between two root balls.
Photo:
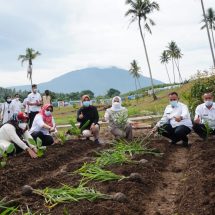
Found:
M 84 187 L 81 184 L 78 187 L 70 187 L 68 185 L 63 185 L 61 188 L 47 187 L 43 190 L 33 190 L 33 193 L 43 196 L 46 204 L 51 208 L 59 203 L 110 199 L 109 195 L 102 194 L 93 188 Z

